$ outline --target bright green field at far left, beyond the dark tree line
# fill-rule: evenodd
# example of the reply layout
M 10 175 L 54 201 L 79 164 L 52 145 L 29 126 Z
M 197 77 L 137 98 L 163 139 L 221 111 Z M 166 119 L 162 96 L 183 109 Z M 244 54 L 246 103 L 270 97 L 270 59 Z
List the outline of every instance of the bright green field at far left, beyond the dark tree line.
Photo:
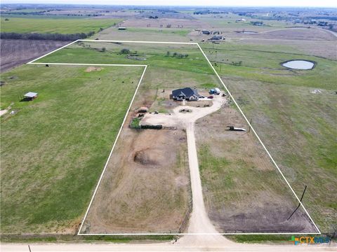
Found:
M 76 34 L 100 31 L 116 25 L 119 19 L 79 19 L 79 18 L 1 18 L 1 32 L 16 33 L 59 33 Z

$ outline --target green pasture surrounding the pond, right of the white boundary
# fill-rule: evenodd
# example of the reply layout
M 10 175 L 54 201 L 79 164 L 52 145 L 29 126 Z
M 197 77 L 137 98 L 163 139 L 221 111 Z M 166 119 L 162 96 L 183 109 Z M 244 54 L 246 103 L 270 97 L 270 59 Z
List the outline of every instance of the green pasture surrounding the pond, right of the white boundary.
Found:
M 204 43 L 201 46 L 211 62 L 217 64 L 216 70 L 222 76 L 305 87 L 336 87 L 335 60 L 311 56 L 289 45 L 225 43 L 213 46 Z M 306 59 L 317 64 L 308 71 L 286 69 L 280 64 L 291 59 Z M 234 66 L 232 62 L 242 62 L 242 65 Z

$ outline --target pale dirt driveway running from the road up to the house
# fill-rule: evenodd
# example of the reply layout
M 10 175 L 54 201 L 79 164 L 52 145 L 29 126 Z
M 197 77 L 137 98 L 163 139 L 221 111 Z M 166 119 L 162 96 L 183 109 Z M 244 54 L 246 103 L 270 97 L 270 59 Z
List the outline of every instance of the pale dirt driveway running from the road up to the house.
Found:
M 188 149 L 188 162 L 190 167 L 190 178 L 192 187 L 192 202 L 193 210 L 190 217 L 190 223 L 187 232 L 190 234 L 200 235 L 187 235 L 179 239 L 178 244 L 184 246 L 187 244 L 194 244 L 196 246 L 206 246 L 206 244 L 213 244 L 213 246 L 223 246 L 231 244 L 225 237 L 218 235 L 218 230 L 214 228 L 209 216 L 206 212 L 204 205 L 204 197 L 202 195 L 201 179 L 199 174 L 199 165 L 197 158 L 197 148 L 194 138 L 194 123 L 199 118 L 209 115 L 225 104 L 224 97 L 216 96 L 213 99 L 213 106 L 209 107 L 193 107 L 193 106 L 178 106 L 173 109 L 171 115 L 168 114 L 154 114 L 148 113 L 143 118 L 141 124 L 157 125 L 161 124 L 167 127 L 183 127 L 187 133 L 187 149 Z M 181 113 L 182 109 L 190 110 L 191 112 Z M 201 235 L 213 234 L 213 235 Z

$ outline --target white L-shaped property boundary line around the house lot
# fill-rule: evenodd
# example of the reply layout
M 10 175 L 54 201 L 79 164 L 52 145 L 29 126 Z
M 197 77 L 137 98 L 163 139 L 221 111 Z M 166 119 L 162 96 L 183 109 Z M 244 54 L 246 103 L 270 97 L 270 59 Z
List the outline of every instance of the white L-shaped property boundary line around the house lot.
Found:
M 244 119 L 246 120 L 246 123 L 248 123 L 249 127 L 251 127 L 251 130 L 253 131 L 253 133 L 256 135 L 258 141 L 260 142 L 260 144 L 262 144 L 263 148 L 265 149 L 267 155 L 270 157 L 270 160 L 272 160 L 272 163 L 275 165 L 275 167 L 277 168 L 277 170 L 279 171 L 279 173 L 282 175 L 282 178 L 284 179 L 284 181 L 286 181 L 287 186 L 289 186 L 291 192 L 293 193 L 293 195 L 296 197 L 296 199 L 298 200 L 299 204 L 301 207 L 303 207 L 305 214 L 308 215 L 308 217 L 310 218 L 310 221 L 312 222 L 312 224 L 315 226 L 315 228 L 317 229 L 318 232 L 249 232 L 249 233 L 243 233 L 243 232 L 232 232 L 232 233 L 166 233 L 166 234 L 160 234 L 160 233 L 112 233 L 112 234 L 81 234 L 81 228 L 84 225 L 84 221 L 86 219 L 86 216 L 88 215 L 88 211 L 91 207 L 91 204 L 93 203 L 93 199 L 95 197 L 95 194 L 97 193 L 97 190 L 100 186 L 100 182 L 103 179 L 103 175 L 105 173 L 105 169 L 107 168 L 107 164 L 110 161 L 110 158 L 112 156 L 112 152 L 114 151 L 114 146 L 116 146 L 117 140 L 119 139 L 119 135 L 121 133 L 121 130 L 124 126 L 124 123 L 126 121 L 126 117 L 128 116 L 128 112 L 131 109 L 131 105 L 133 103 L 133 100 L 136 97 L 136 93 L 138 91 L 138 87 L 140 86 L 141 81 L 143 80 L 145 71 L 147 69 L 147 65 L 137 65 L 137 64 L 71 64 L 71 63 L 34 63 L 35 61 L 37 61 L 38 59 L 41 59 L 43 57 L 46 57 L 47 55 L 52 54 L 53 52 L 56 52 L 58 50 L 61 50 L 62 48 L 67 47 L 68 45 L 72 45 L 73 43 L 76 43 L 78 41 L 89 41 L 89 42 L 112 42 L 112 43 L 163 43 L 163 44 L 183 44 L 183 45 L 197 45 L 199 50 L 201 51 L 202 55 L 204 55 L 204 57 L 206 58 L 207 62 L 209 63 L 209 65 L 211 66 L 211 69 L 213 69 L 214 73 L 216 73 L 216 76 L 218 77 L 218 79 L 220 80 L 220 83 L 223 84 L 223 87 L 225 87 L 225 90 L 228 92 L 228 94 L 230 94 L 230 97 L 232 98 L 234 104 L 237 106 L 237 108 L 239 109 L 240 113 L 242 114 L 242 116 L 244 117 Z M 144 71 L 142 73 L 142 76 L 140 77 L 140 81 L 136 87 L 136 92 L 133 94 L 133 98 L 131 99 L 131 103 L 128 106 L 128 111 L 126 111 L 126 115 L 124 116 L 124 120 L 123 123 L 121 124 L 121 127 L 119 128 L 119 132 L 117 134 L 117 137 L 114 141 L 114 144 L 112 146 L 112 150 L 110 151 L 110 155 L 107 159 L 107 162 L 105 163 L 105 167 L 103 169 L 102 174 L 100 175 L 100 179 L 98 181 L 98 184 L 95 188 L 95 191 L 93 193 L 93 196 L 91 197 L 91 201 L 88 205 L 88 209 L 86 210 L 86 214 L 84 215 L 83 221 L 81 223 L 81 226 L 79 228 L 79 231 L 77 233 L 77 235 L 320 235 L 321 232 L 319 230 L 319 228 L 317 227 L 317 225 L 315 224 L 315 222 L 312 220 L 310 214 L 308 213 L 308 211 L 305 209 L 304 205 L 302 204 L 302 202 L 300 202 L 300 199 L 298 198 L 298 196 L 296 195 L 295 191 L 293 190 L 293 188 L 291 188 L 289 182 L 287 181 L 286 177 L 284 176 L 284 174 L 282 173 L 281 169 L 279 169 L 279 166 L 277 165 L 277 163 L 275 162 L 274 158 L 272 158 L 272 155 L 270 155 L 270 152 L 267 150 L 267 148 L 265 147 L 265 144 L 263 144 L 263 141 L 261 141 L 260 137 L 258 137 L 258 134 L 256 133 L 256 131 L 254 130 L 254 128 L 252 127 L 251 123 L 249 123 L 249 120 L 246 118 L 246 116 L 244 115 L 244 112 L 242 111 L 242 109 L 239 107 L 239 104 L 237 104 L 236 100 L 234 99 L 234 97 L 232 96 L 230 90 L 228 90 L 227 86 L 225 85 L 225 83 L 223 83 L 223 80 L 220 78 L 220 76 L 218 75 L 216 69 L 214 69 L 213 65 L 211 64 L 211 62 L 209 61 L 209 58 L 206 56 L 206 54 L 204 53 L 204 50 L 201 49 L 199 43 L 187 43 L 187 42 L 159 42 L 159 41 L 109 41 L 109 40 L 91 40 L 91 39 L 78 39 L 77 41 L 73 41 L 72 43 L 69 43 L 67 45 L 62 46 L 61 48 L 58 48 L 56 50 L 53 50 L 52 52 L 48 52 L 46 55 L 43 55 L 41 57 L 38 57 L 37 59 L 32 60 L 31 62 L 28 62 L 27 64 L 51 64 L 51 65 L 77 65 L 77 66 L 88 66 L 88 65 L 93 65 L 93 66 L 144 66 Z

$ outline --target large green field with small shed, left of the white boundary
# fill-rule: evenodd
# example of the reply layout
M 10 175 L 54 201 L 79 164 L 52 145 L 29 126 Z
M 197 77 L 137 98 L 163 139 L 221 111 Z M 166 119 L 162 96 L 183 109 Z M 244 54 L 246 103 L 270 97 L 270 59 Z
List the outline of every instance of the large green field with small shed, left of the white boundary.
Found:
M 143 67 L 20 66 L 4 73 L 1 232 L 74 232 Z M 19 102 L 25 92 L 32 102 Z

